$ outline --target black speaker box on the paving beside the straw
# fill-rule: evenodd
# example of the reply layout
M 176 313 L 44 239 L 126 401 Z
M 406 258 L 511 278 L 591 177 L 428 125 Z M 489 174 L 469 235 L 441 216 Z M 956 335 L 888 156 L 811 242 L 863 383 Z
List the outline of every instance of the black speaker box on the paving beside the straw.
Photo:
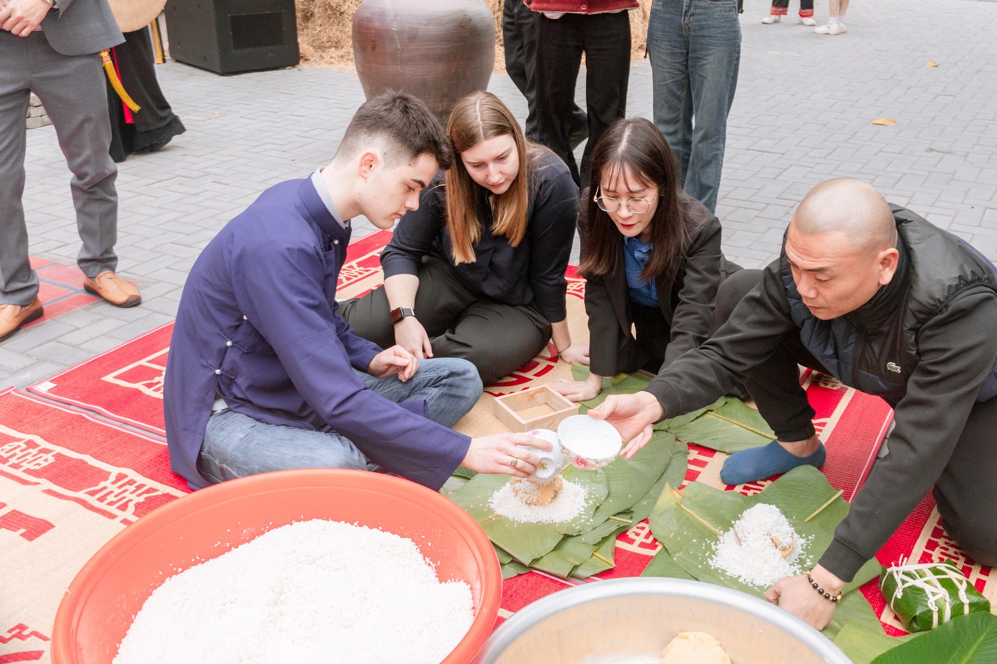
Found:
M 294 0 L 169 0 L 166 36 L 174 60 L 222 75 L 301 60 Z

